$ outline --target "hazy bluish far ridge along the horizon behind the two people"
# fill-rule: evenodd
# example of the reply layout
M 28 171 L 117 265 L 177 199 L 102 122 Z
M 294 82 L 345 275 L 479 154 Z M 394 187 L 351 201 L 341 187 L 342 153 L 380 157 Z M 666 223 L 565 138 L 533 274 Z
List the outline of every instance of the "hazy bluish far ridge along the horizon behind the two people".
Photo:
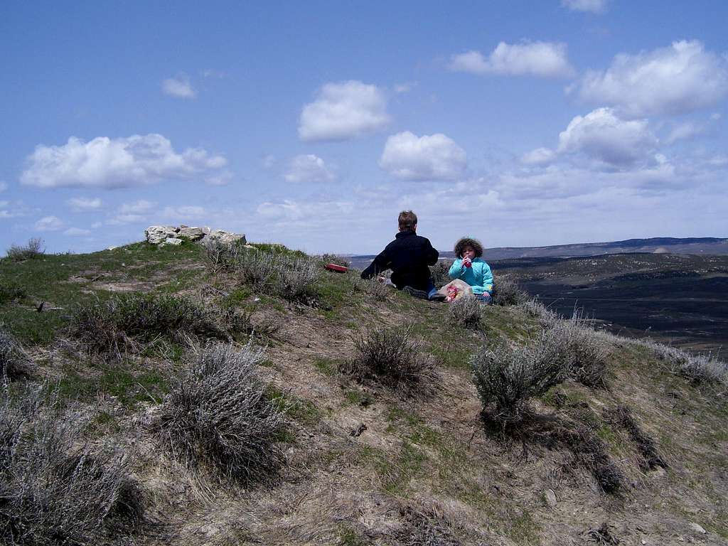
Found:
M 728 239 L 719 237 L 652 237 L 612 242 L 583 242 L 574 245 L 548 247 L 496 247 L 486 248 L 487 260 L 509 258 L 574 258 L 620 253 L 670 253 L 728 256 Z M 440 250 L 441 258 L 454 258 L 452 251 Z M 366 267 L 373 255 L 352 256 L 352 265 Z

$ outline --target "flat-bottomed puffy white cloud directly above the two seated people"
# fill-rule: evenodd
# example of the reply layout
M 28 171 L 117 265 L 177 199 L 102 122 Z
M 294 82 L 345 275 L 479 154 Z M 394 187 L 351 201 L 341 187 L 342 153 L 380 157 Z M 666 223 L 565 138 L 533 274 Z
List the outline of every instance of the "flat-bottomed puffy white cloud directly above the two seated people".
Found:
M 467 166 L 467 154 L 441 133 L 418 137 L 405 131 L 387 138 L 379 166 L 403 180 L 452 180 Z

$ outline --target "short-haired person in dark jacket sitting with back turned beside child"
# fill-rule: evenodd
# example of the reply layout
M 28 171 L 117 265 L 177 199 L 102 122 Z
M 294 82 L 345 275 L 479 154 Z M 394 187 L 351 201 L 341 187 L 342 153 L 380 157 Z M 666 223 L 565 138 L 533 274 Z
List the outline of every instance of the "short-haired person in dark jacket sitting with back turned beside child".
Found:
M 438 251 L 432 248 L 430 240 L 416 233 L 417 216 L 411 210 L 403 210 L 397 222 L 400 232 L 362 272 L 362 278 L 371 279 L 392 269 L 391 280 L 397 290 L 416 298 L 443 301 L 444 296 L 438 294 L 428 267 L 437 263 Z

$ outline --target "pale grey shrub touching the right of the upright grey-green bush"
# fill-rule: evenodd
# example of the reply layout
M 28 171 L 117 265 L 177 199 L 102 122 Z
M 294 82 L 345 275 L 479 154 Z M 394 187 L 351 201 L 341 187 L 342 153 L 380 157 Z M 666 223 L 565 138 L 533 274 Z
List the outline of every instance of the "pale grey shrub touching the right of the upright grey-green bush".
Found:
M 569 320 L 555 320 L 545 331 L 545 341 L 576 381 L 587 387 L 606 387 L 609 351 L 585 319 L 575 314 Z

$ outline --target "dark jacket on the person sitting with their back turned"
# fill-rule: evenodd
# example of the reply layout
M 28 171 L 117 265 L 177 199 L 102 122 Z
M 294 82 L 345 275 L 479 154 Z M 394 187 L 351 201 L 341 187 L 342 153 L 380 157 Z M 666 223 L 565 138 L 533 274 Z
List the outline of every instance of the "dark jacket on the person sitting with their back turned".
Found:
M 438 251 L 430 240 L 415 232 L 399 232 L 379 256 L 362 272 L 363 279 L 371 279 L 380 272 L 392 269 L 392 282 L 402 290 L 411 286 L 427 290 L 430 284 L 430 268 L 438 262 Z

